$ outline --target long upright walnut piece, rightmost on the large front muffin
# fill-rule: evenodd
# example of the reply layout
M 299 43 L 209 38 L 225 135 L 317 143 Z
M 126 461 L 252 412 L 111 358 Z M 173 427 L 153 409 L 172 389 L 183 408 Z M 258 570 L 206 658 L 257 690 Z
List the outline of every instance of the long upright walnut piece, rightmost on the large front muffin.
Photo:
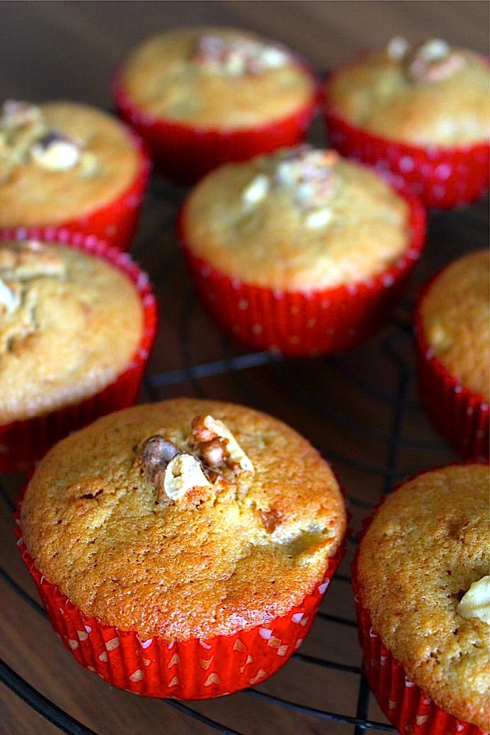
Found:
M 204 461 L 212 467 L 226 465 L 233 472 L 253 472 L 250 459 L 223 421 L 210 415 L 196 416 L 192 421 L 192 436 Z

